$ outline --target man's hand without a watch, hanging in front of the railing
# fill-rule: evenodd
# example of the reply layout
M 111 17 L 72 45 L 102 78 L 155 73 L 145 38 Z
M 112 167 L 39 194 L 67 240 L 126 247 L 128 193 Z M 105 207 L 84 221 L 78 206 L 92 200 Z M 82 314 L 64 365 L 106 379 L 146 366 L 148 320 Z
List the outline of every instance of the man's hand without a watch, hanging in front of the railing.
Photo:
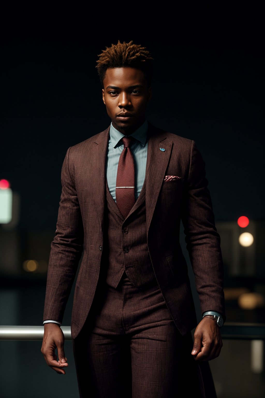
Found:
M 58 351 L 58 361 L 57 355 L 55 354 L 56 348 Z M 63 368 L 68 367 L 68 363 L 64 354 L 64 334 L 58 324 L 44 324 L 41 352 L 43 353 L 47 365 L 56 371 L 58 375 L 65 375 L 65 370 Z

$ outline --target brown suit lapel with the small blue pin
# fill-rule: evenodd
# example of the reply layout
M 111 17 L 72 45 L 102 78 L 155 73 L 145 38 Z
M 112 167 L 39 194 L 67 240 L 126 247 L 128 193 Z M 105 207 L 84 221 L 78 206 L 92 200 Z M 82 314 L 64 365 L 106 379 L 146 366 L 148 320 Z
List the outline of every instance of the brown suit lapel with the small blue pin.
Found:
M 157 198 L 168 167 L 172 141 L 167 139 L 166 133 L 149 124 L 148 149 L 146 162 L 146 226 L 147 234 L 157 204 Z

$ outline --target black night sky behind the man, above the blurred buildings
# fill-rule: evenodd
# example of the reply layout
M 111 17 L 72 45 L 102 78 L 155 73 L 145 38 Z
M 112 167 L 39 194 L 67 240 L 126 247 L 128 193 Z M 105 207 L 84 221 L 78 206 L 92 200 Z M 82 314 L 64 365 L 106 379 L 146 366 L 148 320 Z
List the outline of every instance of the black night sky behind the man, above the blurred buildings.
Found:
M 216 220 L 264 219 L 261 10 L 153 2 L 152 16 L 135 2 L 10 4 L 1 24 L 0 178 L 21 195 L 21 229 L 55 228 L 66 150 L 110 123 L 95 64 L 118 39 L 151 51 L 147 118 L 195 140 Z

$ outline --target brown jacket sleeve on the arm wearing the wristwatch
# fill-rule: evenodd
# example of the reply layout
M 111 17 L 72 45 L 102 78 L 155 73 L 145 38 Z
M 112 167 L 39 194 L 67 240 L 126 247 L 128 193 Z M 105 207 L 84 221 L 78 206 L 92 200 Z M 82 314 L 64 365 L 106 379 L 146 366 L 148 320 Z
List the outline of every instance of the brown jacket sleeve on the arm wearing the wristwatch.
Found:
M 205 163 L 192 141 L 190 169 L 182 205 L 185 240 L 195 275 L 201 312 L 217 311 L 225 319 L 220 236 L 215 228 L 207 185 Z

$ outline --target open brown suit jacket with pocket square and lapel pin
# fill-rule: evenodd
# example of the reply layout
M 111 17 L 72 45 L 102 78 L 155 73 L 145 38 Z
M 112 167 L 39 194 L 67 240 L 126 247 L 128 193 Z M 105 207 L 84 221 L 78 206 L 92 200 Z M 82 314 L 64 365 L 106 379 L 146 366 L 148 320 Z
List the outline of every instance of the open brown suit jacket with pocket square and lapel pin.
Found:
M 151 124 L 148 135 L 147 246 L 168 309 L 184 335 L 195 327 L 196 317 L 187 265 L 179 244 L 180 220 L 184 224 L 201 312 L 215 310 L 224 316 L 220 238 L 215 229 L 205 164 L 194 141 Z M 51 245 L 44 320 L 62 321 L 84 247 L 75 286 L 73 338 L 89 313 L 104 251 L 108 137 L 109 127 L 69 148 L 62 166 L 62 195 L 56 236 Z M 165 182 L 165 175 L 180 179 Z

